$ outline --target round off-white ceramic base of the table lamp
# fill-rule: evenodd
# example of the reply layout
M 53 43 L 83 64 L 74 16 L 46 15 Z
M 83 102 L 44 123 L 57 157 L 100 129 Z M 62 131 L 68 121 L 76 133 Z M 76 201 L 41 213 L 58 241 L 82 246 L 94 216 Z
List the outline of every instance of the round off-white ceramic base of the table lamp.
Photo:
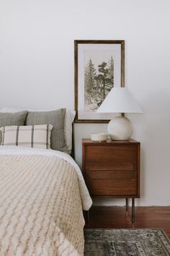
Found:
M 116 116 L 110 120 L 107 130 L 112 140 L 128 140 L 133 134 L 133 126 L 125 116 Z

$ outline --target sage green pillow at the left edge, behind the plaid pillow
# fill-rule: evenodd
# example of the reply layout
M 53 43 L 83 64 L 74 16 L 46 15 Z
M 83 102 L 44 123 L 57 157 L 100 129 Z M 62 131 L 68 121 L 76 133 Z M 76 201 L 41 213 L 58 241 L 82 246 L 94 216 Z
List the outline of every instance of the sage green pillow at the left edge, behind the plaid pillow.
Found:
M 15 113 L 0 113 L 0 128 L 11 125 L 24 125 L 28 111 L 20 111 Z M 1 145 L 1 132 L 0 132 Z

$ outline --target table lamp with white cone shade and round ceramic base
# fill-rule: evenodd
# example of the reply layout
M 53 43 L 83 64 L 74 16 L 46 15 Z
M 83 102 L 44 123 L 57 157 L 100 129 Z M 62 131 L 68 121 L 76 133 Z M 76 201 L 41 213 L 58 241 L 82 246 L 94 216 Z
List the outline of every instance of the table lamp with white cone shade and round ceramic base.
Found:
M 97 112 L 143 113 L 127 88 L 112 88 Z M 109 121 L 107 131 L 112 140 L 128 140 L 133 134 L 133 126 L 127 117 L 116 116 Z

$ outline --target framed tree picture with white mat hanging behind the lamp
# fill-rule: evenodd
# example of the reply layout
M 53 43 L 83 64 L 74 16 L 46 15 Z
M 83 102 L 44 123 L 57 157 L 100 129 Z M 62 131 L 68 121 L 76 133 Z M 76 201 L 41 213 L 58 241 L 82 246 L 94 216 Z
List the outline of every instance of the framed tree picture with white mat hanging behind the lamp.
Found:
M 107 123 L 114 114 L 97 113 L 113 87 L 125 86 L 125 40 L 74 40 L 77 123 Z

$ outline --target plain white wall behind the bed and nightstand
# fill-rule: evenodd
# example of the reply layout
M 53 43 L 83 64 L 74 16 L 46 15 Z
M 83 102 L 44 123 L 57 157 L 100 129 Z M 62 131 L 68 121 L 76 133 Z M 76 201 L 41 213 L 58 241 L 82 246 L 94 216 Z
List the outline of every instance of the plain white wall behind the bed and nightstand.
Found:
M 145 111 L 129 115 L 142 149 L 138 205 L 170 205 L 169 9 L 169 0 L 0 1 L 0 107 L 73 109 L 73 40 L 125 40 L 125 86 Z M 75 125 L 80 165 L 81 138 L 106 130 Z

